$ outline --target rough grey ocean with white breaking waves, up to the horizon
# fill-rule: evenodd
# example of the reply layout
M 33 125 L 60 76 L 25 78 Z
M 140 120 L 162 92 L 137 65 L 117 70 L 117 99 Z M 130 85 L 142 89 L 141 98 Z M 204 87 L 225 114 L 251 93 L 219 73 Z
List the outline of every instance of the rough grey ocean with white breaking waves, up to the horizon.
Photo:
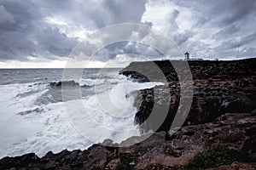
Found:
M 1 69 L 0 70 L 0 157 L 20 156 L 34 152 L 44 156 L 49 150 L 84 150 L 91 144 L 113 139 L 121 142 L 140 135 L 134 116 L 135 94 L 143 88 L 153 88 L 157 82 L 136 82 L 119 75 L 120 69 L 84 69 L 80 80 L 72 74 L 63 80 L 63 69 Z M 76 74 L 76 69 L 73 69 Z M 79 88 L 81 98 L 62 99 L 61 86 Z M 97 89 L 97 93 L 96 93 Z M 119 108 L 119 115 L 102 107 L 99 101 L 108 99 Z M 108 98 L 107 98 L 108 97 Z M 65 104 L 82 100 L 93 122 L 84 123 L 93 140 L 80 133 L 69 119 Z M 107 102 L 108 103 L 108 102 Z M 76 113 L 72 113 L 76 114 Z M 97 132 L 103 126 L 113 133 Z M 132 129 L 130 133 L 122 133 Z

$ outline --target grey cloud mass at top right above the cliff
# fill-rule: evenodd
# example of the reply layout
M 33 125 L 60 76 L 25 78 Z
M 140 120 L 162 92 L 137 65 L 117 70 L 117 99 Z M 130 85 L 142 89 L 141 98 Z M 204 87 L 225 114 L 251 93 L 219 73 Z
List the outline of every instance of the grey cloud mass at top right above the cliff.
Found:
M 192 36 L 181 44 L 183 51 L 205 58 L 227 59 L 236 56 L 238 46 L 241 56 L 256 56 L 256 1 L 254 0 L 196 0 L 174 1 L 177 7 L 188 10 L 193 25 Z M 182 13 L 182 11 L 179 11 Z M 174 38 L 175 39 L 175 38 Z M 250 49 L 250 50 L 249 50 Z M 249 54 L 252 53 L 252 54 Z M 226 56 L 226 57 L 225 57 Z

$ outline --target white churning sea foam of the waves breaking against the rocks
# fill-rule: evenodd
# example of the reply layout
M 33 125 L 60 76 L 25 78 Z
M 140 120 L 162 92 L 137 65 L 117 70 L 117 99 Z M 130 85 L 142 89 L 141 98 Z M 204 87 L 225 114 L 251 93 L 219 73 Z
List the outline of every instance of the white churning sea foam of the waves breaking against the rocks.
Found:
M 133 106 L 134 98 L 130 94 L 134 90 L 153 88 L 160 84 L 131 82 L 122 76 L 115 77 L 113 80 L 108 79 L 108 81 L 117 82 L 117 84 L 113 85 L 109 91 L 102 90 L 97 95 L 90 95 L 83 99 L 83 109 L 92 118 L 90 122 L 86 122 L 87 124 L 83 122 L 87 129 L 104 127 L 116 131 L 115 133 L 113 131 L 105 133 L 92 130 L 90 133 L 97 133 L 98 137 L 93 142 L 102 142 L 104 139 L 120 142 L 133 135 L 139 135 L 138 129 L 134 125 L 134 114 L 137 110 Z M 0 157 L 18 156 L 29 152 L 44 156 L 49 150 L 54 152 L 65 149 L 84 150 L 93 144 L 75 130 L 73 122 L 70 122 L 66 113 L 64 102 L 35 105 L 35 101 L 47 90 L 47 85 L 44 83 L 0 86 L 0 95 L 2 96 L 0 98 L 2 110 L 0 128 L 3 129 L 0 132 Z M 21 95 L 24 93 L 26 96 Z M 99 98 L 109 98 L 113 107 L 102 106 Z M 78 101 L 71 100 L 67 103 L 76 105 Z M 119 110 L 122 112 L 115 112 Z M 79 119 L 79 114 L 77 116 Z M 127 129 L 131 130 L 127 131 Z M 127 133 L 118 133 L 118 131 Z

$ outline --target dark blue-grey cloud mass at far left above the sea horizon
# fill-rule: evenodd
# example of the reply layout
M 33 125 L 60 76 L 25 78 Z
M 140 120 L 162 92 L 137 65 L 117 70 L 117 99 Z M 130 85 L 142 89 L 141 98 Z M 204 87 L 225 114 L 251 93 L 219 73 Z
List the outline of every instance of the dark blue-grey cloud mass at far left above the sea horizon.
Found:
M 1 1 L 9 19 L 0 26 L 0 59 L 28 60 L 29 57 L 54 59 L 67 56 L 76 40 L 44 22 L 41 7 L 29 1 Z

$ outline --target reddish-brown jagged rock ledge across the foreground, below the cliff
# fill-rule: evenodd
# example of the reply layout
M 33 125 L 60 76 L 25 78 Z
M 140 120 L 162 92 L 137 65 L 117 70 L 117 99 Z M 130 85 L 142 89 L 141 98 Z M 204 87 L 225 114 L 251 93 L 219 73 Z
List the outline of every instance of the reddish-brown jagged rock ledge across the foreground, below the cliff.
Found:
M 5 157 L 0 160 L 0 169 L 150 169 L 153 167 L 185 169 L 197 153 L 218 149 L 218 147 L 251 156 L 251 161 L 253 159 L 256 161 L 255 157 L 253 158 L 256 153 L 255 123 L 256 116 L 251 113 L 227 113 L 219 116 L 214 122 L 182 127 L 176 133 L 170 134 L 172 139 L 168 140 L 166 140 L 166 133 L 160 132 L 153 133 L 148 139 L 138 144 L 115 148 L 115 150 L 108 150 L 104 145 L 94 144 L 83 151 L 63 150 L 57 154 L 49 151 L 42 158 L 38 158 L 35 154 Z M 123 144 L 140 138 L 143 137 L 131 137 L 123 141 Z M 112 141 L 108 139 L 106 143 L 109 144 Z M 213 169 L 238 167 L 253 169 L 255 163 L 234 162 L 232 165 Z

